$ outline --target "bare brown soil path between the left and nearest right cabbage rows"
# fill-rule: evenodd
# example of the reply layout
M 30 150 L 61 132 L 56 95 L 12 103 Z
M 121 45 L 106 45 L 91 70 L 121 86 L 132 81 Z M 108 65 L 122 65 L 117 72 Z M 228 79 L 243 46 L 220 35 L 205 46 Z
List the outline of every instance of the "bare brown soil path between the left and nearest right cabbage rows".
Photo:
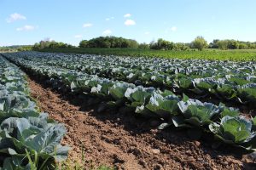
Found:
M 102 164 L 128 170 L 253 168 L 249 159 L 224 156 L 205 143 L 191 141 L 183 132 L 160 132 L 151 129 L 149 122 L 119 111 L 85 111 L 85 103 L 70 103 L 75 101 L 74 96 L 63 97 L 31 79 L 28 82 L 39 108 L 57 122 L 65 123 L 67 136 L 63 144 L 72 147 L 70 159 L 81 161 L 81 145 L 84 146 L 84 169 Z

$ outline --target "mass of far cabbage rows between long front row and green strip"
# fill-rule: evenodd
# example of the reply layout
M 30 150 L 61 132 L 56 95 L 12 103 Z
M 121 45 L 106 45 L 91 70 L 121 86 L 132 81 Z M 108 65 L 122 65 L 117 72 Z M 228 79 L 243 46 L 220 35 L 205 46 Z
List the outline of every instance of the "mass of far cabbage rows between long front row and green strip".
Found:
M 252 105 L 256 102 L 255 63 L 209 60 L 145 59 L 116 56 L 22 52 L 22 59 L 82 71 L 144 87 Z

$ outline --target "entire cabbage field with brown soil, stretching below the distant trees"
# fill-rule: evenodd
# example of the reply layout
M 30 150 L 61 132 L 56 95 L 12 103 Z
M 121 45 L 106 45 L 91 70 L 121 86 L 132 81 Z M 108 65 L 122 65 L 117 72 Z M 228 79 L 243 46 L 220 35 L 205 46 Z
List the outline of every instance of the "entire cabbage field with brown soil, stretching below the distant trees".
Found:
M 255 167 L 255 50 L 44 51 L 1 54 L 1 167 Z

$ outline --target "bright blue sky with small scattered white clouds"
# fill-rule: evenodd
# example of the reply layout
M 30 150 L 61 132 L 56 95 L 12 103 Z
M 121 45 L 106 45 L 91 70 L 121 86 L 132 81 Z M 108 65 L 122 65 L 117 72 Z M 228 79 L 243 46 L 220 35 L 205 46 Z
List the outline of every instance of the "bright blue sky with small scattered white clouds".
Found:
M 0 46 L 117 36 L 256 42 L 255 0 L 0 0 Z

